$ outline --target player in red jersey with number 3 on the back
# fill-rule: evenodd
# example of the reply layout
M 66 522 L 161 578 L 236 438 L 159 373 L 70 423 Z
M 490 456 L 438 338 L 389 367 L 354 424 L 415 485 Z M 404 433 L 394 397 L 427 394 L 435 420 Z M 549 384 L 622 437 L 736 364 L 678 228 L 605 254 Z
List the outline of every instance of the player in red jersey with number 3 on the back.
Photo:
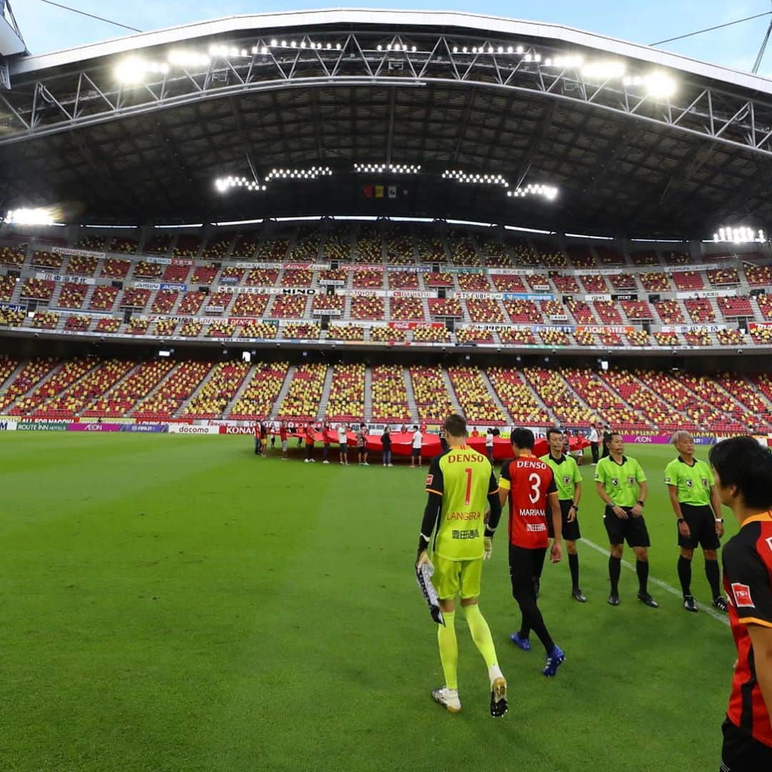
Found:
M 550 638 L 537 605 L 533 583 L 541 576 L 549 545 L 545 514 L 547 504 L 555 533 L 550 550 L 553 563 L 561 557 L 563 518 L 552 469 L 533 455 L 533 432 L 524 428 L 513 429 L 510 441 L 515 458 L 505 461 L 501 468 L 499 499 L 502 506 L 505 501 L 510 503 L 510 579 L 513 597 L 523 612 L 520 631 L 513 633 L 511 639 L 527 652 L 530 650 L 528 635 L 533 630 L 547 651 L 547 665 L 542 672 L 551 676 L 555 675 L 566 657 Z

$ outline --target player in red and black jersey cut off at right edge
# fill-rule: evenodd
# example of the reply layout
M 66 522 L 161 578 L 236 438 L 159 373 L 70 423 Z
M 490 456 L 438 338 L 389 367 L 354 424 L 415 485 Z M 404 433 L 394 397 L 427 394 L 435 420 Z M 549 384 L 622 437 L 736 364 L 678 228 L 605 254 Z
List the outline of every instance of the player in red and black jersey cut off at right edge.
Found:
M 772 770 L 772 455 L 751 437 L 734 437 L 711 449 L 709 459 L 721 503 L 740 523 L 723 548 L 737 664 L 721 770 Z

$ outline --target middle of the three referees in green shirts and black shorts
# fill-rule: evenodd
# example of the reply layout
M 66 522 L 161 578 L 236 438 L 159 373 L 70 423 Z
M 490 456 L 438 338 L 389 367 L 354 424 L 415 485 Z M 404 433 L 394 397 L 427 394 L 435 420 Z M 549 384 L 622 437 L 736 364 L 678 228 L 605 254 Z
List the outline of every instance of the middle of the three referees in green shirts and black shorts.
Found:
M 619 432 L 610 432 L 604 438 L 608 455 L 595 467 L 595 489 L 606 505 L 603 523 L 611 544 L 608 558 L 608 577 L 611 594 L 608 604 L 619 605 L 619 575 L 625 540 L 635 552 L 635 573 L 638 574 L 638 600 L 651 608 L 657 601 L 648 594 L 648 547 L 651 541 L 643 519 L 648 485 L 641 465 L 625 455 L 625 442 Z

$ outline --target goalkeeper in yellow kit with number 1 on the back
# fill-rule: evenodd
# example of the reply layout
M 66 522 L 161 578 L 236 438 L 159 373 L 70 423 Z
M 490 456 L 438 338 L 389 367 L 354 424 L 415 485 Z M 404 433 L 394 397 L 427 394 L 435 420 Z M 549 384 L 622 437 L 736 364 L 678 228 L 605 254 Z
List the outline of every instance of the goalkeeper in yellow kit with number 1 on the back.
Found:
M 477 598 L 482 560 L 491 555 L 493 532 L 501 516 L 499 486 L 486 456 L 466 445 L 466 420 L 460 415 L 451 415 L 445 418 L 444 428 L 448 449 L 432 459 L 429 466 L 428 502 L 416 560 L 417 568 L 425 563 L 434 566 L 432 584 L 445 619 L 445 624 L 437 629 L 445 686 L 435 689 L 432 698 L 451 713 L 461 710 L 456 677 L 459 647 L 454 627 L 455 596 L 459 595 L 472 639 L 488 668 L 490 714 L 497 718 L 506 713 L 506 680 L 499 669 L 496 647 Z

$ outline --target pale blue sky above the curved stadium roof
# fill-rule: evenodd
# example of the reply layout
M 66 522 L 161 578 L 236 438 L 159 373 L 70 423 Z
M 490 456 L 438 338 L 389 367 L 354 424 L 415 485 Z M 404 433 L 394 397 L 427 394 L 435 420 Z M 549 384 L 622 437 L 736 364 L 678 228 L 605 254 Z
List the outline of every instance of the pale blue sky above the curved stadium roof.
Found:
M 73 48 L 90 42 L 130 34 L 126 29 L 87 19 L 81 15 L 47 5 L 42 0 L 11 0 L 15 17 L 32 53 Z M 284 0 L 263 4 L 244 0 L 201 3 L 183 0 L 57 0 L 82 11 L 100 15 L 150 32 L 190 22 L 217 19 L 226 15 L 304 10 L 310 8 L 399 8 L 412 10 L 469 11 L 508 16 L 535 22 L 556 22 L 588 32 L 650 45 L 653 42 L 694 32 L 735 19 L 770 11 L 767 0 L 648 0 L 626 3 L 618 0 L 553 0 L 547 5 L 503 0 L 369 0 L 369 2 L 319 2 Z M 756 59 L 770 16 L 743 22 L 686 40 L 666 43 L 662 49 L 749 71 Z M 772 45 L 764 58 L 760 74 L 772 77 Z

